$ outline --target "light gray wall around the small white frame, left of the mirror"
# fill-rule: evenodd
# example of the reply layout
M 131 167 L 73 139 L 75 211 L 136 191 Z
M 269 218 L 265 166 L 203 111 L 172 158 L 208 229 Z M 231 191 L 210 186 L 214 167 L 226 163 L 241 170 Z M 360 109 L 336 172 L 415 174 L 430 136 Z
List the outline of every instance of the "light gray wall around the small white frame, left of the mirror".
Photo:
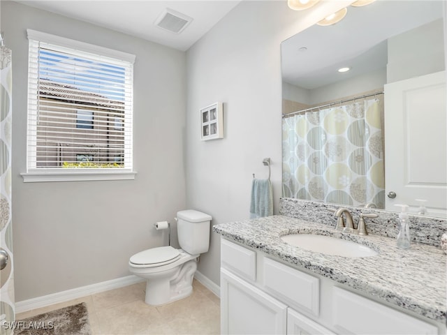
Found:
M 268 177 L 274 211 L 281 196 L 280 43 L 335 10 L 340 1 L 296 12 L 285 1 L 242 1 L 187 52 L 186 204 L 213 224 L 249 218 L 251 174 Z M 352 2 L 352 1 L 351 1 Z M 198 112 L 223 102 L 225 137 L 200 141 Z M 219 283 L 220 241 L 212 233 L 199 271 Z

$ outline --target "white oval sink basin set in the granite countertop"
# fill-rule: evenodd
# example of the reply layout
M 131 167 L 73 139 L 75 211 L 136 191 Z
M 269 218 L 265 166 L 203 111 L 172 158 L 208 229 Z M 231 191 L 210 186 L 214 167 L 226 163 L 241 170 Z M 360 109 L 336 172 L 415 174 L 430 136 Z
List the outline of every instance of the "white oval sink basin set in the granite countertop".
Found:
M 287 244 L 316 253 L 344 257 L 369 257 L 378 253 L 372 248 L 346 239 L 317 234 L 288 234 L 281 236 Z

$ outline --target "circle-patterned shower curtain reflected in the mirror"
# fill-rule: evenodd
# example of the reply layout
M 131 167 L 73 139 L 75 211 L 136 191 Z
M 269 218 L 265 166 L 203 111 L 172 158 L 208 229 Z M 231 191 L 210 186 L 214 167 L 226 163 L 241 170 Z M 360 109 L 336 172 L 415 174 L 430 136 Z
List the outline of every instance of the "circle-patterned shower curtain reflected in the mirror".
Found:
M 372 98 L 284 118 L 284 197 L 384 208 L 381 108 Z

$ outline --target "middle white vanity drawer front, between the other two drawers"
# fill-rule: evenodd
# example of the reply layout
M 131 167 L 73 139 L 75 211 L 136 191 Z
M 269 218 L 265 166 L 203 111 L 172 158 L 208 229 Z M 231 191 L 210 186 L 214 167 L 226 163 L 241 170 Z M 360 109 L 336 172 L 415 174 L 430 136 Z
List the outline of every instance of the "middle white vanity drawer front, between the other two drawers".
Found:
M 266 290 L 279 295 L 281 300 L 298 311 L 318 316 L 320 311 L 318 278 L 269 258 L 264 258 L 263 265 L 263 285 Z

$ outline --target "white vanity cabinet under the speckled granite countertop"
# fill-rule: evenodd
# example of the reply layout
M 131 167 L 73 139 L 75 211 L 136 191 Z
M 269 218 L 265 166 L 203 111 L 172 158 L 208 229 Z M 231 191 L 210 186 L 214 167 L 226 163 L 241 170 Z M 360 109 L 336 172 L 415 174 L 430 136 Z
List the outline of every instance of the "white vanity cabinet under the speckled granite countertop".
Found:
M 221 334 L 441 334 L 340 286 L 221 239 Z

